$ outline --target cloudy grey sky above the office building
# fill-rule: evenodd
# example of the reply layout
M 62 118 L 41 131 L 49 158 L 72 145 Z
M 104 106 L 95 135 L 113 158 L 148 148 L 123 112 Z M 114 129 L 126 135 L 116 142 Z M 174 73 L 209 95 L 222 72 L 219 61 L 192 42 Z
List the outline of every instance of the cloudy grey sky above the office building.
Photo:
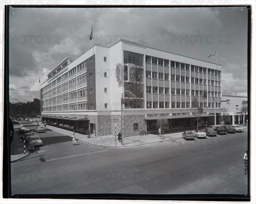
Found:
M 115 35 L 146 46 L 222 65 L 222 92 L 247 92 L 246 7 L 17 9 L 9 12 L 9 94 L 12 102 L 40 98 L 40 83 L 65 57 L 103 46 Z M 111 36 L 111 38 L 109 37 Z M 183 39 L 183 40 L 182 40 Z M 186 40 L 187 39 L 187 40 Z M 110 42 L 111 41 L 111 42 Z M 42 75 L 44 72 L 44 75 Z

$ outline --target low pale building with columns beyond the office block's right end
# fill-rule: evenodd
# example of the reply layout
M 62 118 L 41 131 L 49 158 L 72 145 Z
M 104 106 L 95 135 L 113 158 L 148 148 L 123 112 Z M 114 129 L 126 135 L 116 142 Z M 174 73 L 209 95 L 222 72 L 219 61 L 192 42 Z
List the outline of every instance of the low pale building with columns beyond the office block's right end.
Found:
M 227 108 L 231 124 L 247 123 L 248 113 L 246 115 L 241 115 L 241 108 L 243 106 L 248 106 L 247 93 L 246 96 L 239 95 L 239 93 L 238 95 L 222 95 L 222 100 L 230 100 L 228 102 L 223 102 L 222 106 Z

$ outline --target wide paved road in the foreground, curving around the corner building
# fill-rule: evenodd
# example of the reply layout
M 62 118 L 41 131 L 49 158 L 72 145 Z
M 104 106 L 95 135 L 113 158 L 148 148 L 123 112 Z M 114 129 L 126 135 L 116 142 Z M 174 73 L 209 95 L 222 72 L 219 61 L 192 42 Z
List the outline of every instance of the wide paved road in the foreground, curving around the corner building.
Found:
M 12 163 L 12 195 L 247 194 L 247 131 L 127 148 L 73 146 L 52 131 L 38 135 L 45 145 Z

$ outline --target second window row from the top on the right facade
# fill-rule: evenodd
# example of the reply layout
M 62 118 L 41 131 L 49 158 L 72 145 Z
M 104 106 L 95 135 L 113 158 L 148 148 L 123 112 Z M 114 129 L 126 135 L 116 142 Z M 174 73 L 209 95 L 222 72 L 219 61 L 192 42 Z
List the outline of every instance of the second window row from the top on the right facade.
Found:
M 152 75 L 151 75 L 152 73 Z M 153 78 L 153 79 L 164 79 L 164 80 L 169 80 L 169 74 L 163 74 L 160 72 L 151 72 L 151 71 L 146 71 L 146 77 L 147 78 Z M 207 79 L 200 79 L 200 78 L 195 78 L 195 77 L 185 77 L 185 76 L 180 76 L 180 75 L 171 75 L 171 80 L 172 81 L 178 81 L 178 82 L 186 82 L 189 83 L 191 79 L 191 83 L 197 83 L 197 84 L 207 84 Z M 208 85 L 212 86 L 221 86 L 221 81 L 216 81 L 216 80 L 208 80 Z

